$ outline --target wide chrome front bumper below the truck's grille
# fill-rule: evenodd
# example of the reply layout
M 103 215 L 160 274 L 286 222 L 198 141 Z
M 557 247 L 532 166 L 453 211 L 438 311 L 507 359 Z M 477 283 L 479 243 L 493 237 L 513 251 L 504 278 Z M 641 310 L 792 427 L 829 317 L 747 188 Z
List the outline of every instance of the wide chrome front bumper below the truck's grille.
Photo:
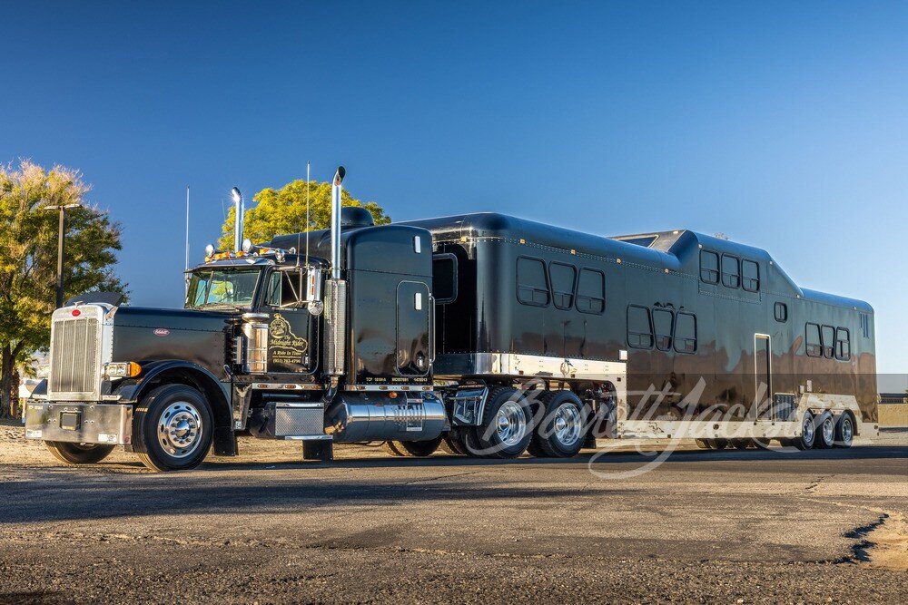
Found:
M 131 444 L 133 406 L 31 400 L 25 407 L 25 438 L 78 444 Z

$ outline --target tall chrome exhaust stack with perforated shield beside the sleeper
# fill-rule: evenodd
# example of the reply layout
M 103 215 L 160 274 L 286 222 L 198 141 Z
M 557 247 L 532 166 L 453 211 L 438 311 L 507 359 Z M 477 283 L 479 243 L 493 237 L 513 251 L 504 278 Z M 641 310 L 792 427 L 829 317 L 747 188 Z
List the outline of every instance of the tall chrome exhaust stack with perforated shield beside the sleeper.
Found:
M 344 373 L 347 344 L 347 282 L 341 279 L 341 192 L 347 171 L 339 166 L 331 183 L 331 278 L 325 288 L 325 372 L 336 387 Z

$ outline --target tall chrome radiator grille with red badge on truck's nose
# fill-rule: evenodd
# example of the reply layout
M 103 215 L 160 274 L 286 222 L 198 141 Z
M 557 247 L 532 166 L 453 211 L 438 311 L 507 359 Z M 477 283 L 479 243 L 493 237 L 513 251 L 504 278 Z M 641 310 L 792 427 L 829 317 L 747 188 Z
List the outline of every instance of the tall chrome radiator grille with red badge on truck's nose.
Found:
M 51 393 L 90 395 L 97 392 L 101 379 L 99 326 L 97 317 L 54 321 L 51 328 Z

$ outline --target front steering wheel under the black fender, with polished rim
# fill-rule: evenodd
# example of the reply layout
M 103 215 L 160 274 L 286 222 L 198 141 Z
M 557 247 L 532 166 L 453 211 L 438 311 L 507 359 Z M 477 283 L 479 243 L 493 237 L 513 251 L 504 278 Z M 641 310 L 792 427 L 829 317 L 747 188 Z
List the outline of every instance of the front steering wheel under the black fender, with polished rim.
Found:
M 142 464 L 153 471 L 187 471 L 212 447 L 212 410 L 202 393 L 163 385 L 143 396 L 134 425 Z

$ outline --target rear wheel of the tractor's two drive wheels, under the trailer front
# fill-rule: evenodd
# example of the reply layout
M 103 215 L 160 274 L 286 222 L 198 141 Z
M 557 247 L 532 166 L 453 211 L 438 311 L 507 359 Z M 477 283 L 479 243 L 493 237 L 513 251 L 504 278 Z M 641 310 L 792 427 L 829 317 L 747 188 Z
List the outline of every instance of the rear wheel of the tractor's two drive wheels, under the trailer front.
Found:
M 531 444 L 551 458 L 571 458 L 583 448 L 585 410 L 583 402 L 570 391 L 555 391 L 539 399 L 540 422 Z

